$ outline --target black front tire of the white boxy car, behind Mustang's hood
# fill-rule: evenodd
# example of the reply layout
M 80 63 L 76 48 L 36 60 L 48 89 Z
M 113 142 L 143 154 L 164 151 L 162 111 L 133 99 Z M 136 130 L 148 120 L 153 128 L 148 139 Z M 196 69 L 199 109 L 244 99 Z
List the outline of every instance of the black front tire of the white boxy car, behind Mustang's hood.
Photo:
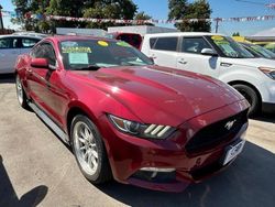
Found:
M 249 116 L 250 117 L 255 116 L 258 112 L 261 106 L 257 92 L 250 86 L 242 84 L 233 85 L 232 87 L 234 87 L 242 96 L 244 96 L 244 98 L 251 105 L 249 110 Z

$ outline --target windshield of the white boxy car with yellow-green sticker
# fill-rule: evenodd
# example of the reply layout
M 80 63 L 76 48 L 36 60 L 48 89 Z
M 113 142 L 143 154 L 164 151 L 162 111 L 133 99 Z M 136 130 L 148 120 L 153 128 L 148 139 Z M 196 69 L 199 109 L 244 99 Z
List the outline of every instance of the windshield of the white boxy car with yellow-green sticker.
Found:
M 231 58 L 253 58 L 254 56 L 243 46 L 228 36 L 212 35 L 211 41 L 226 57 Z

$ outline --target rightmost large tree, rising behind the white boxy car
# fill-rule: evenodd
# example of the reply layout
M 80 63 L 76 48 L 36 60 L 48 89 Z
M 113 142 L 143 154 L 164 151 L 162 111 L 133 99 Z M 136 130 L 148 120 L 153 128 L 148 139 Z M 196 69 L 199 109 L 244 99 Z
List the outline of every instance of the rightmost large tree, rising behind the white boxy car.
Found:
M 211 9 L 206 0 L 196 0 L 188 3 L 186 0 L 169 0 L 169 20 L 184 20 L 175 26 L 183 32 L 209 32 L 211 22 L 193 21 L 189 19 L 210 19 Z

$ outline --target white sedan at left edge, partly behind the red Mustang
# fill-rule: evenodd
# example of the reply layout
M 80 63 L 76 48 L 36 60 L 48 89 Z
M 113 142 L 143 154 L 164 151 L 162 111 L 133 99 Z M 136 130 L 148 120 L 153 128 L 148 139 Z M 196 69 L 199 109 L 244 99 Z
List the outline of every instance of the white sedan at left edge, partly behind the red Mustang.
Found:
M 0 74 L 13 73 L 18 56 L 28 53 L 41 40 L 41 36 L 0 35 Z

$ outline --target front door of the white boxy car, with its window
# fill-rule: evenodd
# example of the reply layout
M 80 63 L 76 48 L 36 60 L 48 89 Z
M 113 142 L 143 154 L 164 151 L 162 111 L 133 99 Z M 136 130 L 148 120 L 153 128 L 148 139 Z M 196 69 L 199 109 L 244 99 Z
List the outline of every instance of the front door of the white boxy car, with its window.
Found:
M 213 50 L 204 36 L 183 36 L 177 68 L 218 77 L 220 59 L 218 56 L 202 55 L 204 48 Z

